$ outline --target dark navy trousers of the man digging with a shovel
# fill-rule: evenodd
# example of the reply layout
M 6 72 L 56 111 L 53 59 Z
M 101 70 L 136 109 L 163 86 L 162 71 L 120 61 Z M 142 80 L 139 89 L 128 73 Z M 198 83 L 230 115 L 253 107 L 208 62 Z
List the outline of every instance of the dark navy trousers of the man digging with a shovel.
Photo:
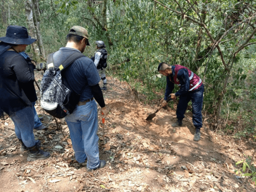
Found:
M 193 125 L 195 128 L 202 127 L 202 102 L 204 97 L 204 85 L 202 84 L 200 88 L 187 92 L 180 95 L 180 100 L 177 106 L 177 119 L 182 120 L 185 116 L 185 111 L 188 107 L 188 102 L 192 102 L 192 112 L 193 112 Z

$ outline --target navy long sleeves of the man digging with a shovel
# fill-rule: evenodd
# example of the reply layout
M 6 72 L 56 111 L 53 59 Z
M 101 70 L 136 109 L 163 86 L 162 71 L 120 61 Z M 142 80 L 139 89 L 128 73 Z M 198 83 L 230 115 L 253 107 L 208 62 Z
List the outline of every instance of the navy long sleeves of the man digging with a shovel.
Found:
M 164 94 L 164 100 L 167 100 L 168 95 L 170 95 L 173 92 L 174 89 L 174 83 L 172 83 L 169 79 L 173 81 L 173 76 L 175 76 L 175 66 L 171 67 L 172 74 L 170 76 L 166 77 L 166 91 Z M 177 74 L 177 78 L 180 80 L 180 89 L 175 93 L 175 96 L 178 97 L 180 95 L 183 95 L 184 93 L 188 92 L 189 90 L 189 76 L 188 76 L 188 70 L 187 69 L 180 69 Z

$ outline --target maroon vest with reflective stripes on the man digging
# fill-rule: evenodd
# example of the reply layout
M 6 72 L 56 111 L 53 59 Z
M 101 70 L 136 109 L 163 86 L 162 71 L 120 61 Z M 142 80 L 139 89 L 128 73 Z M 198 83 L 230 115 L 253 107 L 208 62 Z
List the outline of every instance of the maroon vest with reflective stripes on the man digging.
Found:
M 189 90 L 188 91 L 193 91 L 197 88 L 200 88 L 200 86 L 202 85 L 202 80 L 192 71 L 190 71 L 188 68 L 186 68 L 185 66 L 181 66 L 181 65 L 174 65 L 174 72 L 175 75 L 173 76 L 173 81 L 171 80 L 171 77 L 169 77 L 170 81 L 172 83 L 177 84 L 178 86 L 180 86 L 180 81 L 177 78 L 178 76 L 178 71 L 180 69 L 187 69 L 188 70 L 188 76 L 189 76 L 189 80 L 190 80 L 190 84 L 189 84 Z

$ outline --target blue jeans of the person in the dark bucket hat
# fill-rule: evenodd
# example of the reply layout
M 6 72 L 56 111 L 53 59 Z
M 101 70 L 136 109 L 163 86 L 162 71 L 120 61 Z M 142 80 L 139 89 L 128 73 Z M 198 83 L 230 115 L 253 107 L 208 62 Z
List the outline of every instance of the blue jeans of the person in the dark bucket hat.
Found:
M 26 147 L 36 145 L 34 137 L 34 111 L 33 107 L 25 107 L 15 112 L 14 116 L 10 116 L 14 125 L 15 133 L 18 139 L 21 139 Z

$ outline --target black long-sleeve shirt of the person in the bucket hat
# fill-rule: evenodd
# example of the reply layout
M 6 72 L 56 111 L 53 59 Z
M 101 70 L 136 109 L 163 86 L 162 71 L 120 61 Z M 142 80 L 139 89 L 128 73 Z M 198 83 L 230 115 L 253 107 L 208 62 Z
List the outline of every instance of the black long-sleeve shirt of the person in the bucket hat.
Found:
M 37 100 L 34 66 L 15 51 L 0 55 L 0 115 L 12 116 Z

